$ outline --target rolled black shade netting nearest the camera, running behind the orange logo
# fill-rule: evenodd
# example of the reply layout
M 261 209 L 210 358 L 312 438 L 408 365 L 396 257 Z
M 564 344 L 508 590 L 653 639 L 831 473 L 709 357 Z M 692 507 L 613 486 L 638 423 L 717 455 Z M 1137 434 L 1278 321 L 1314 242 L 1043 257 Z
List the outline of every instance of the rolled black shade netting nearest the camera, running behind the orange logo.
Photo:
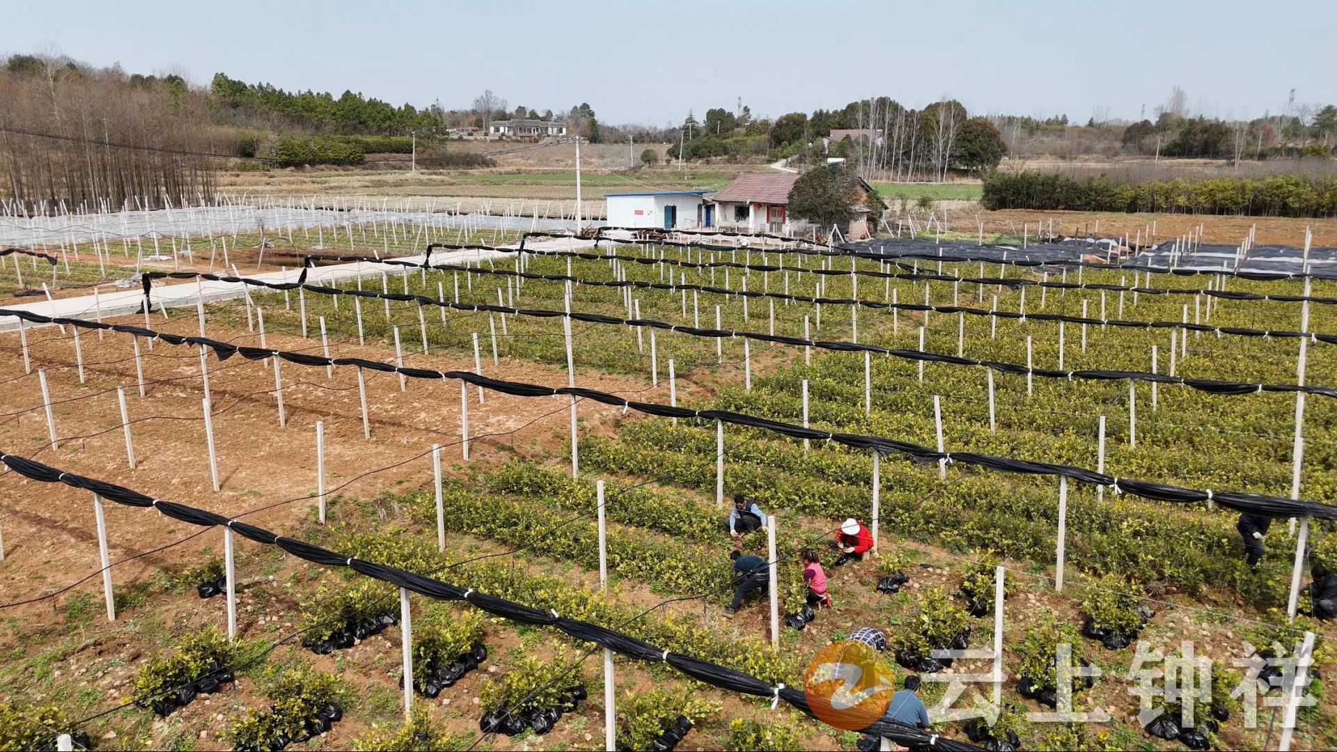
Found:
M 51 466 L 43 464 L 36 460 L 27 458 L 5 454 L 0 451 L 0 462 L 4 462 L 9 470 L 29 478 L 32 480 L 39 480 L 43 483 L 64 483 L 71 488 L 80 488 L 98 494 L 103 499 L 116 502 L 119 504 L 126 504 L 131 507 L 154 507 L 162 514 L 186 522 L 189 525 L 198 525 L 201 527 L 214 527 L 226 526 L 245 538 L 249 538 L 257 543 L 265 546 L 278 546 L 283 551 L 293 554 L 297 558 L 330 567 L 349 567 L 358 574 L 378 579 L 381 582 L 388 582 L 396 587 L 404 587 L 405 590 L 417 593 L 420 595 L 427 595 L 428 598 L 435 598 L 437 601 L 464 601 L 469 605 L 481 609 L 492 616 L 501 617 L 517 624 L 533 625 L 533 626 L 551 626 L 563 632 L 564 634 L 584 642 L 594 642 L 600 648 L 606 648 L 636 661 L 654 661 L 664 662 L 670 666 L 678 669 L 679 672 L 687 674 L 691 678 L 709 684 L 711 686 L 718 686 L 721 689 L 729 689 L 733 692 L 739 692 L 743 694 L 753 694 L 757 697 L 771 697 L 783 700 L 785 702 L 793 705 L 798 711 L 802 711 L 808 716 L 816 719 L 812 709 L 808 707 L 806 697 L 800 689 L 790 689 L 785 685 L 773 686 L 751 674 L 746 674 L 710 661 L 703 661 L 701 658 L 694 658 L 691 656 L 685 656 L 682 653 L 674 653 L 670 650 L 663 650 L 648 642 L 636 640 L 628 634 L 599 626 L 596 624 L 590 624 L 587 621 L 564 618 L 554 610 L 540 610 L 532 606 L 525 606 L 515 601 L 507 601 L 505 598 L 497 598 L 496 595 L 488 595 L 485 593 L 477 593 L 472 589 L 464 590 L 456 585 L 448 582 L 441 582 L 440 579 L 433 579 L 431 577 L 424 577 L 404 569 L 386 566 L 376 562 L 369 562 L 358 559 L 356 557 L 349 557 L 338 551 L 332 551 L 322 546 L 314 543 L 306 543 L 303 541 L 297 541 L 293 538 L 286 538 L 283 535 L 277 535 L 263 527 L 257 527 L 254 525 L 247 525 L 243 522 L 237 522 L 229 519 L 223 515 L 191 507 L 187 504 L 180 504 L 175 502 L 166 502 L 162 499 L 155 499 L 139 491 L 126 488 L 124 486 L 116 486 L 114 483 L 107 483 L 104 480 L 96 480 L 92 478 L 86 478 L 83 475 L 76 475 L 72 472 L 64 472 L 56 470 Z M 820 720 L 820 719 L 817 719 Z M 877 733 L 886 736 L 888 739 L 896 741 L 901 745 L 921 747 L 932 745 L 937 749 L 947 749 L 949 752 L 955 751 L 971 751 L 977 749 L 977 747 L 952 741 L 943 739 L 937 735 L 923 732 L 906 725 L 878 721 L 874 725 L 864 729 L 868 733 Z

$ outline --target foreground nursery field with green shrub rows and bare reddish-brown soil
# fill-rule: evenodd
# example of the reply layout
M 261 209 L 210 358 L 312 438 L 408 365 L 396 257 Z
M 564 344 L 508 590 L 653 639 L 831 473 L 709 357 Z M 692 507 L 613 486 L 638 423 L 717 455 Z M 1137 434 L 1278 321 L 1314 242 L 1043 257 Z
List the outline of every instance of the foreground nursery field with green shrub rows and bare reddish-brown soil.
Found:
M 499 189 L 513 185 L 503 175 L 495 178 L 491 185 Z M 537 183 L 521 185 L 528 190 Z M 1000 225 L 1039 219 L 1023 213 L 999 217 Z M 1130 227 L 1140 226 L 1135 219 L 1128 219 Z M 1110 221 L 1102 218 L 1102 231 Z M 1162 236 L 1177 231 L 1170 219 L 1161 221 Z M 1258 227 L 1259 242 L 1265 237 L 1277 238 L 1266 242 L 1298 242 L 1290 237 L 1293 226 L 1258 221 Z M 1234 242 L 1247 227 L 1207 219 L 1206 230 L 1207 240 Z M 1108 231 L 1123 230 L 1111 226 Z M 1316 225 L 1316 242 L 1328 242 L 1320 238 L 1332 231 L 1330 225 Z M 237 242 L 254 246 L 258 237 Z M 309 241 L 294 241 L 293 253 L 305 245 Z M 389 248 L 397 254 L 412 250 L 404 241 Z M 253 288 L 249 302 L 207 304 L 206 333 L 215 340 L 261 345 L 262 335 L 251 324 L 253 309 L 261 309 L 267 328 L 261 347 L 267 349 L 320 356 L 325 345 L 316 322 L 324 320 L 332 356 L 425 371 L 401 379 L 349 364 L 326 369 L 324 364 L 270 359 L 219 360 L 210 353 L 207 389 L 218 492 L 209 464 L 198 349 L 159 339 L 150 351 L 147 339 L 139 337 L 147 383 L 140 397 L 131 335 L 82 331 L 80 379 L 72 333 L 29 328 L 32 367 L 44 369 L 51 389 L 44 400 L 36 371 L 29 375 L 24 367 L 20 337 L 0 335 L 7 355 L 0 359 L 0 383 L 7 384 L 0 393 L 0 451 L 154 499 L 229 518 L 245 515 L 243 522 L 295 541 L 508 598 L 539 613 L 551 609 L 562 617 L 587 620 L 664 650 L 753 674 L 767 685 L 801 685 L 812 656 L 860 626 L 884 629 L 898 657 L 912 665 L 928 658 L 931 648 L 943 648 L 944 637 L 961 633 L 969 648 L 991 648 L 995 567 L 1003 566 L 1007 678 L 1001 725 L 995 728 L 999 735 L 1013 731 L 1024 749 L 1183 748 L 1143 731 L 1136 719 L 1138 697 L 1130 693 L 1136 686 L 1130 673 L 1138 653 L 1132 646 L 1106 648 L 1079 636 L 1086 617 L 1140 630 L 1148 646 L 1166 654 L 1177 653 L 1182 640 L 1193 640 L 1198 654 L 1219 670 L 1213 674 L 1217 688 L 1197 701 L 1198 712 L 1229 711 L 1229 719 L 1207 737 L 1217 748 L 1270 749 L 1280 735 L 1285 708 L 1278 689 L 1259 697 L 1257 728 L 1246 728 L 1242 696 L 1230 697 L 1246 686 L 1243 666 L 1235 664 L 1246 662 L 1245 641 L 1292 656 L 1301 634 L 1313 630 L 1320 678 L 1308 690 L 1316 702 L 1300 711 L 1293 748 L 1337 744 L 1337 715 L 1325 692 L 1337 669 L 1328 640 L 1337 634 L 1328 622 L 1304 613 L 1293 624 L 1288 621 L 1296 539 L 1285 519 L 1271 526 L 1262 566 L 1250 571 L 1234 529 L 1235 512 L 1199 500 L 1173 504 L 1110 487 L 1098 490 L 1074 478 L 1067 483 L 1066 573 L 1058 590 L 1058 479 L 1001 472 L 968 460 L 975 452 L 1094 470 L 1103 421 L 1103 463 L 1115 478 L 1214 488 L 1218 494 L 1289 496 L 1293 393 L 1218 395 L 1127 377 L 1028 379 L 1024 371 L 908 356 L 923 351 L 1023 368 L 1034 363 L 1036 369 L 1155 369 L 1191 379 L 1294 384 L 1294 339 L 1098 322 L 1066 322 L 1060 333 L 1056 322 L 1034 317 L 886 308 L 897 301 L 1146 322 L 1178 322 L 1183 316 L 1198 321 L 1205 314 L 1206 322 L 1223 329 L 1281 332 L 1300 328 L 1301 304 L 1009 285 L 1056 281 L 1056 276 L 995 264 L 906 261 L 909 269 L 893 269 L 838 257 L 824 269 L 832 273 L 814 274 L 814 265 L 822 269 L 826 258 L 774 249 L 762 256 L 747 249 L 607 242 L 596 253 L 610 248 L 646 262 L 511 254 L 472 268 L 449 261 L 432 270 L 386 266 L 380 280 L 373 276 L 341 285 L 348 293 L 369 293 L 361 297 Z M 678 264 L 650 262 L 660 258 Z M 706 266 L 721 261 L 787 269 Z M 836 273 L 846 268 L 865 274 Z M 87 265 L 80 269 L 86 277 L 96 276 Z M 525 276 L 517 274 L 521 270 Z M 886 270 L 1004 281 L 983 285 L 877 276 Z M 1076 274 L 1070 269 L 1067 281 L 1075 282 Z M 1206 276 L 1152 274 L 1139 281 L 1126 270 L 1084 269 L 1080 274 L 1087 285 L 1143 289 L 1201 290 L 1209 280 L 1217 284 Z M 571 288 L 570 310 L 603 317 L 571 321 L 570 356 L 563 317 L 548 314 L 566 309 L 567 276 L 580 281 Z M 8 281 L 0 277 L 0 290 L 19 286 L 17 280 L 13 285 Z M 634 285 L 615 286 L 620 282 Z M 678 286 L 671 288 L 674 284 Z M 762 294 L 722 294 L 703 286 Z M 1298 294 L 1301 282 L 1231 278 L 1227 289 Z M 862 304 L 817 305 L 786 298 L 783 292 Z M 389 300 L 388 293 L 461 306 Z M 1337 282 L 1317 280 L 1312 294 L 1337 297 Z M 461 309 L 471 305 L 511 312 Z M 695 336 L 627 325 L 628 318 L 758 336 Z M 115 322 L 179 336 L 199 331 L 190 310 L 171 310 L 167 317 L 154 313 L 147 324 L 143 316 Z M 1337 309 L 1313 304 L 1308 324 L 1310 332 L 1337 335 Z M 767 339 L 771 336 L 893 352 L 876 352 L 865 361 L 857 348 L 840 352 Z M 1152 347 L 1159 356 L 1155 365 Z M 1308 384 L 1337 385 L 1337 359 L 1328 353 L 1332 347 L 1322 341 L 1309 345 Z M 1175 352 L 1174 360 L 1170 352 Z M 840 442 L 805 443 L 763 426 L 725 426 L 686 416 L 671 420 L 595 399 L 568 403 L 564 395 L 520 396 L 465 387 L 456 379 L 428 377 L 436 371 L 479 372 L 548 388 L 574 383 L 639 403 L 674 401 L 694 411 L 733 411 L 790 426 L 810 423 L 836 434 L 943 447 L 967 460 L 919 463 L 900 452 L 882 458 L 877 486 L 880 555 L 833 567 L 824 543 L 830 531 L 846 516 L 872 521 L 874 464 L 866 450 Z M 365 408 L 360 375 L 365 376 Z M 1130 384 L 1135 407 L 1130 405 Z M 116 387 L 124 387 L 128 397 L 134 468 L 127 462 Z M 275 400 L 275 391 L 282 400 Z M 461 399 L 468 405 L 468 459 L 461 444 Z M 52 405 L 59 447 L 51 446 L 44 401 Z M 571 404 L 578 415 L 575 479 Z M 1325 502 L 1337 487 L 1334 407 L 1333 397 L 1308 396 L 1301 498 Z M 364 434 L 364 409 L 370 439 Z M 324 431 L 329 495 L 324 523 L 317 503 L 317 421 Z M 717 450 L 721 426 L 722 464 Z M 435 444 L 441 447 L 440 514 Z M 830 575 L 833 607 L 818 610 L 802 630 L 782 629 L 775 648 L 765 595 L 747 601 L 735 618 L 725 618 L 731 590 L 726 553 L 733 546 L 722 529 L 726 511 L 717 507 L 719 467 L 726 503 L 727 496 L 741 492 L 777 516 L 782 617 L 801 610 L 800 550 L 816 549 Z M 599 581 L 596 480 L 604 482 L 607 494 L 606 593 Z M 5 546 L 0 591 L 7 594 L 0 603 L 0 650 L 5 656 L 0 697 L 11 704 L 56 707 L 35 728 L 35 740 L 47 740 L 52 728 L 83 720 L 79 729 L 99 749 L 265 744 L 277 735 L 293 740 L 306 733 L 312 708 L 334 702 L 342 717 L 302 745 L 396 748 L 421 733 L 427 736 L 417 743 L 439 748 L 603 748 L 603 678 L 591 642 L 496 616 L 471 618 L 467 614 L 481 612 L 413 595 L 414 666 L 451 662 L 463 654 L 460 645 L 468 649 L 475 642 L 487 645 L 487 657 L 452 686 L 437 686 L 436 697 L 416 696 L 414 720 L 404 725 L 398 625 L 382 625 L 374 634 L 364 629 L 362 637 L 349 637 L 349 645 L 324 654 L 303 648 L 303 641 L 320 649 L 321 642 L 337 640 L 350 621 L 397 616 L 389 583 L 354 574 L 349 566 L 318 566 L 291 551 L 238 538 L 238 641 L 227 646 L 226 640 L 209 637 L 210 629 L 226 634 L 225 598 L 203 599 L 195 591 L 197 585 L 219 577 L 223 533 L 159 516 L 151 508 L 106 503 L 118 612 L 116 621 L 108 624 L 90 492 L 7 472 L 0 476 L 0 494 L 8 502 L 0 508 Z M 439 547 L 443 533 L 444 550 Z M 1312 561 L 1337 565 L 1330 523 L 1314 521 L 1309 537 Z M 765 538 L 750 534 L 738 546 L 767 557 Z M 908 582 L 897 593 L 880 593 L 878 581 L 897 571 L 905 573 Z M 963 595 L 963 586 L 972 594 L 989 594 L 984 616 L 967 614 L 973 595 Z M 1146 612 L 1139 613 L 1140 606 Z M 1301 606 L 1308 607 L 1308 599 L 1302 598 Z M 1076 694 L 1076 709 L 1107 713 L 1107 723 L 1027 720 L 1027 713 L 1050 708 L 1024 697 L 1017 680 L 1046 680 L 1039 674 L 1054 670 L 1047 650 L 1059 637 L 1071 638 L 1075 657 L 1100 672 L 1091 688 Z M 151 705 L 146 697 L 175 686 L 162 658 L 179 650 L 195 662 L 205 656 L 201 665 L 209 656 L 222 658 L 219 664 L 233 669 L 235 681 L 168 708 L 166 716 L 134 704 L 138 698 Z M 960 658 L 947 672 L 923 668 L 920 664 L 915 673 L 924 678 L 921 696 L 932 707 L 948 693 L 949 680 L 987 674 L 992 661 Z M 908 673 L 902 666 L 894 672 L 897 677 Z M 695 724 L 681 748 L 852 749 L 857 740 L 856 733 L 809 720 L 785 702 L 773 708 L 770 696 L 694 682 L 662 662 L 618 658 L 616 676 L 618 729 L 627 735 L 620 743 L 628 748 L 647 745 L 679 713 Z M 480 719 L 499 708 L 543 711 L 560 702 L 560 694 L 576 684 L 584 685 L 588 700 L 541 736 L 480 731 Z M 989 690 L 987 681 L 976 684 L 956 707 L 980 708 Z M 279 709 L 270 711 L 282 716 L 279 721 L 295 723 L 297 732 L 289 733 L 266 715 L 270 705 Z M 299 717 L 303 712 L 308 716 Z M 933 732 L 965 741 L 965 725 L 964 720 L 945 721 Z M 404 736 L 396 741 L 393 733 Z

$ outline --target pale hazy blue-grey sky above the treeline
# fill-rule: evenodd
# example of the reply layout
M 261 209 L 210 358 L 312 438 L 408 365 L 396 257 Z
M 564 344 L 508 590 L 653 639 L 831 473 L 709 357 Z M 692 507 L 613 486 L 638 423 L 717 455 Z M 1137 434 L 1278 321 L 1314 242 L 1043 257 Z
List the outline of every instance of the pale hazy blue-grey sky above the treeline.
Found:
M 1174 84 L 1217 116 L 1281 111 L 1292 87 L 1297 103 L 1337 102 L 1337 5 L 1321 0 L 0 0 L 0 17 L 7 54 L 447 108 L 491 88 L 540 112 L 588 102 L 611 123 L 678 123 L 738 96 L 777 116 L 945 94 L 1080 122 L 1152 116 Z

